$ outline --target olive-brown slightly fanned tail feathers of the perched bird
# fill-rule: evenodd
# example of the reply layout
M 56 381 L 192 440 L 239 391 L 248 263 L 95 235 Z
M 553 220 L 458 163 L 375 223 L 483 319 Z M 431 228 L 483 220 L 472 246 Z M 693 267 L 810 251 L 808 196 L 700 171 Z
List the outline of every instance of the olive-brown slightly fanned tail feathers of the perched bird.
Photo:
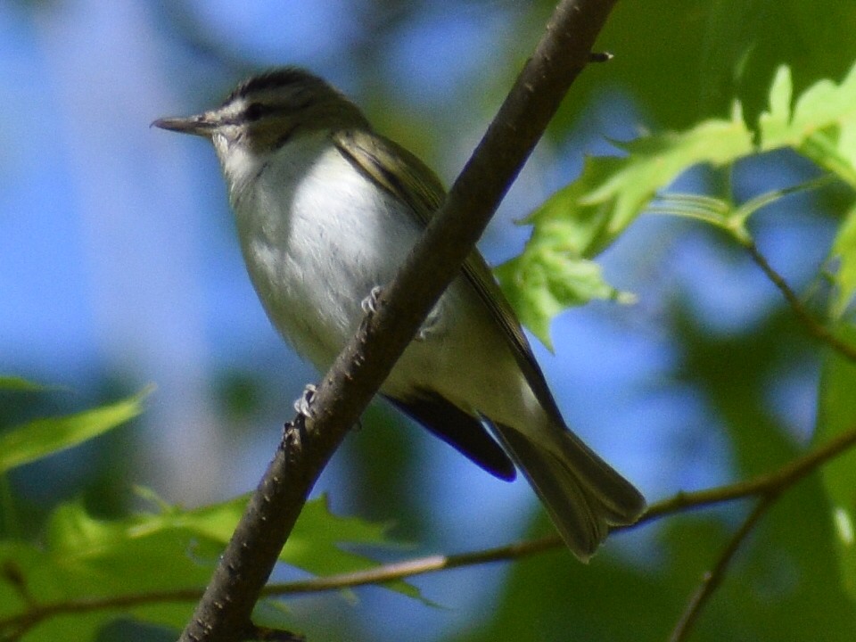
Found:
M 538 493 L 573 554 L 594 555 L 610 526 L 631 524 L 645 510 L 636 488 L 586 446 L 562 429 L 539 444 L 505 425 L 494 425 L 514 462 Z

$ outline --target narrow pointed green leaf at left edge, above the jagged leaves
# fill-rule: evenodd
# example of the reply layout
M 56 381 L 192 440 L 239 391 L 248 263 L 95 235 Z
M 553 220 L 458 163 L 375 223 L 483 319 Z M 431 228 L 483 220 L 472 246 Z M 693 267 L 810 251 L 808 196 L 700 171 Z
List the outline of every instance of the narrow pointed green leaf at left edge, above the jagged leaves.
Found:
M 36 419 L 0 434 L 0 473 L 70 449 L 139 415 L 148 389 L 69 416 Z

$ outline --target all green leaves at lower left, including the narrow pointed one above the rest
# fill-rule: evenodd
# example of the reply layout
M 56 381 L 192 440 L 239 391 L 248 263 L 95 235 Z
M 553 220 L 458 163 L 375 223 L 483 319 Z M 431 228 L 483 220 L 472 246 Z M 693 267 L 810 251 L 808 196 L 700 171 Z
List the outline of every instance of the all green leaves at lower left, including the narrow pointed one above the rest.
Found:
M 39 389 L 7 378 L 12 391 Z M 70 416 L 37 419 L 0 434 L 0 465 L 6 471 L 94 440 L 142 410 L 146 391 Z M 57 506 L 43 538 L 0 539 L 0 638 L 24 631 L 22 640 L 95 639 L 117 617 L 181 628 L 193 612 L 218 556 L 243 514 L 247 497 L 185 510 L 151 490 L 139 490 L 152 505 L 118 519 L 90 514 L 80 500 Z M 4 514 L 14 514 L 6 498 Z M 7 518 L 8 519 L 8 518 Z M 15 531 L 9 524 L 9 531 Z M 386 527 L 330 513 L 325 498 L 307 503 L 281 553 L 284 564 L 332 574 L 376 563 L 342 548 L 388 545 Z M 419 597 L 405 582 L 389 588 Z M 36 618 L 33 626 L 29 618 Z

